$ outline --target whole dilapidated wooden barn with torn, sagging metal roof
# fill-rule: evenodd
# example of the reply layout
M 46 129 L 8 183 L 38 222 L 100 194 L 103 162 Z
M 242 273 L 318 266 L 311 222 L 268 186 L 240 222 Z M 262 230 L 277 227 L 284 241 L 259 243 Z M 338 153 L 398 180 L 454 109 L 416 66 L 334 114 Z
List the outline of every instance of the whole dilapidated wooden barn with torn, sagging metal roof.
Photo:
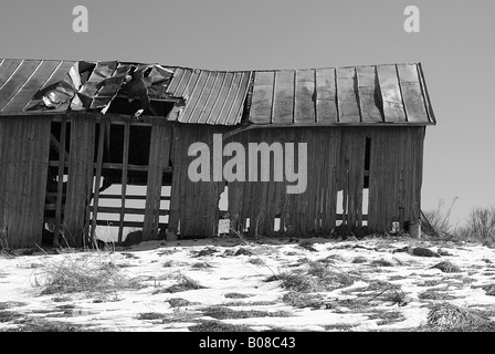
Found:
M 118 241 L 129 228 L 144 240 L 204 238 L 221 218 L 231 232 L 264 236 L 407 229 L 420 221 L 434 124 L 421 64 L 222 72 L 0 60 L 0 241 L 34 247 L 48 226 L 77 247 L 109 226 Z M 192 180 L 191 146 L 214 149 L 219 136 L 246 152 L 293 143 L 297 155 L 304 143 L 306 154 L 291 162 L 273 148 L 271 178 L 232 180 L 221 150 L 207 156 L 211 178 Z M 260 166 L 259 155 L 236 162 Z M 287 164 L 299 177 L 306 168 L 303 192 L 287 192 Z

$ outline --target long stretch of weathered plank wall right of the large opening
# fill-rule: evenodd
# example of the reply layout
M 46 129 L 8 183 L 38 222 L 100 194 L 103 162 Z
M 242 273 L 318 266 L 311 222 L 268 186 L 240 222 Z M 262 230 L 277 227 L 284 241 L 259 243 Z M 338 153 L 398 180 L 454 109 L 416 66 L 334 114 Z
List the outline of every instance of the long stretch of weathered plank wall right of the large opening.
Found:
M 196 157 L 187 156 L 192 143 L 211 140 L 219 127 L 179 125 L 175 131 L 173 183 L 169 227 L 180 233 L 211 236 L 217 230 L 218 201 L 225 183 L 191 183 L 187 170 Z M 366 139 L 370 139 L 370 167 L 365 170 Z M 329 232 L 341 220 L 387 231 L 399 220 L 419 219 L 424 127 L 307 127 L 256 128 L 223 142 L 307 143 L 307 189 L 287 194 L 285 181 L 228 183 L 228 211 L 233 230 L 271 236 L 274 221 L 281 230 Z M 231 157 L 223 158 L 223 165 Z M 222 166 L 223 166 L 222 165 Z M 273 162 L 271 163 L 273 176 Z M 365 175 L 369 176 L 368 212 L 364 212 Z M 337 198 L 338 191 L 341 197 Z M 340 204 L 337 206 L 337 204 Z M 337 207 L 343 210 L 337 215 Z M 249 221 L 247 221 L 249 220 Z

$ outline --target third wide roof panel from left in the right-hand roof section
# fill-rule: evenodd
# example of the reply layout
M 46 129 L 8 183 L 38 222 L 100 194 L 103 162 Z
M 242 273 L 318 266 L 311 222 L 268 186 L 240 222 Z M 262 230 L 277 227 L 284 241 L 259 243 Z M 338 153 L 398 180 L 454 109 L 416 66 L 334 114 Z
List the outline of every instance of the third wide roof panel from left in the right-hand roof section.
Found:
M 297 70 L 294 122 L 316 122 L 315 70 Z

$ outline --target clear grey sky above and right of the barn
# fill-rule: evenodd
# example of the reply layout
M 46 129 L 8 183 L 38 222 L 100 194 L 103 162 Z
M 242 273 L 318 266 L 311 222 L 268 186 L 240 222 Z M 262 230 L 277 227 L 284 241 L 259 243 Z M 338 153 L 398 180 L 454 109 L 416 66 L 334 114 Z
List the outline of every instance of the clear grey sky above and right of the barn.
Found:
M 74 32 L 84 6 L 88 31 Z M 415 6 L 420 32 L 408 33 Z M 453 222 L 495 205 L 493 0 L 2 0 L 0 58 L 118 60 L 210 70 L 421 62 L 426 127 L 422 209 Z

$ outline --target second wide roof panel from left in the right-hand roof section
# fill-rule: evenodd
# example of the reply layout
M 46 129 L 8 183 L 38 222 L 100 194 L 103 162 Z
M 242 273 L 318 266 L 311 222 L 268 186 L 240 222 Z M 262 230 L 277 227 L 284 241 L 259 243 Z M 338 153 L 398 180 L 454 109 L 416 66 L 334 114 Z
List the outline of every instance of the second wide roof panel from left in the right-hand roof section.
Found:
M 273 123 L 291 124 L 294 122 L 294 70 L 283 70 L 276 73 Z

